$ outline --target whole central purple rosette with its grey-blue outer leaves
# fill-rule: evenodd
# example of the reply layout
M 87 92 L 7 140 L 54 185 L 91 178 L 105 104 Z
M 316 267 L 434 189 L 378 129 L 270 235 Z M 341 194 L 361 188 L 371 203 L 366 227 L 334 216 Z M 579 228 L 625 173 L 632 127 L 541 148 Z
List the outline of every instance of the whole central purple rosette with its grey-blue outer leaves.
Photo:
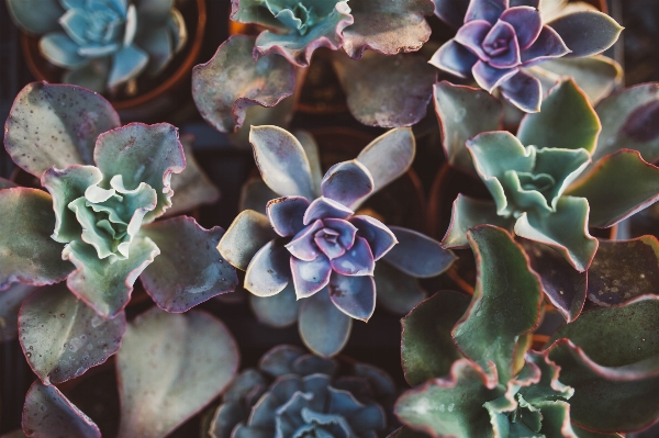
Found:
M 265 184 L 247 188 L 246 204 L 256 210 L 243 211 L 217 248 L 246 271 L 245 289 L 259 297 L 253 307 L 261 322 L 287 326 L 299 319 L 305 345 L 334 356 L 353 318 L 371 317 L 376 284 L 405 312 L 423 296 L 414 278 L 442 273 L 454 255 L 417 232 L 355 212 L 407 170 L 415 150 L 410 130 L 390 131 L 324 177 L 315 143 L 300 138 L 276 126 L 252 128 Z M 395 291 L 393 281 L 412 284 L 409 294 Z

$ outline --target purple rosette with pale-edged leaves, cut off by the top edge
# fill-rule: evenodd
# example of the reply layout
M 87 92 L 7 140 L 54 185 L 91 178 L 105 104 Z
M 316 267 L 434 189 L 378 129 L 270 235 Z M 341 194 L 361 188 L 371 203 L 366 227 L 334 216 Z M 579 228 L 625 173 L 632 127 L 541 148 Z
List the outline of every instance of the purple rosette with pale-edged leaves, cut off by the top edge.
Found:
M 566 10 L 546 23 L 539 0 L 462 3 L 467 7 L 463 22 L 457 19 L 460 7 L 449 0 L 437 0 L 437 14 L 458 31 L 435 53 L 431 64 L 460 78 L 473 78 L 488 92 L 500 90 L 506 101 L 524 112 L 540 111 L 543 88 L 551 87 L 560 75 L 574 74 L 588 81 L 588 75 L 580 74 L 577 66 L 569 61 L 557 64 L 556 59 L 599 55 L 622 32 L 613 19 L 590 7 Z M 554 13 L 557 2 L 546 3 Z M 554 61 L 547 65 L 548 71 L 538 67 L 546 61 Z M 606 61 L 594 58 L 582 64 L 593 63 L 594 66 L 581 66 L 581 70 L 610 76 L 611 64 L 605 66 Z M 613 67 L 613 79 L 619 77 L 618 70 Z M 590 88 L 593 87 L 596 85 Z M 601 93 L 595 90 L 593 94 Z

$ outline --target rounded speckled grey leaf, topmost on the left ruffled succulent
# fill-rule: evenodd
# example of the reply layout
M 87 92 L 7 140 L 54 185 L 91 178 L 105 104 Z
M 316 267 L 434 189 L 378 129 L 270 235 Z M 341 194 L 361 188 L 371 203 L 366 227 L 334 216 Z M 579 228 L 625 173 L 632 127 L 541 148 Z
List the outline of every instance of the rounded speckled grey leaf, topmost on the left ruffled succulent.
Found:
M 119 115 L 100 94 L 76 86 L 32 82 L 11 108 L 4 147 L 19 167 L 41 178 L 53 166 L 92 165 L 99 134 L 119 126 Z

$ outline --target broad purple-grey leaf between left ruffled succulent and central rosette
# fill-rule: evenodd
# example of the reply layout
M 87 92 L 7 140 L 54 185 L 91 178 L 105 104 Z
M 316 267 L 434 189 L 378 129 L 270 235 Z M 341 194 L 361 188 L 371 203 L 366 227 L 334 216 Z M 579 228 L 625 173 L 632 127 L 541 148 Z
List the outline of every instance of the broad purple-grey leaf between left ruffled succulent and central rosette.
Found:
M 187 312 L 238 284 L 235 269 L 215 249 L 224 229 L 202 228 L 192 217 L 178 216 L 142 227 L 160 255 L 141 276 L 156 304 L 167 312 Z

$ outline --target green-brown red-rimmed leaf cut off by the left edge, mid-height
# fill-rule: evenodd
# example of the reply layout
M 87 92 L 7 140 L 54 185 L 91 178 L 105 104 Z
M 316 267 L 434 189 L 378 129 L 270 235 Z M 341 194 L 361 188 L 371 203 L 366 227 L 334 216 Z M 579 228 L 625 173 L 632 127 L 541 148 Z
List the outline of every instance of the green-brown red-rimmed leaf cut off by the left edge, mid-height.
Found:
M 48 193 L 25 188 L 0 190 L 0 291 L 12 282 L 56 283 L 74 270 L 62 260 L 64 246 L 51 238 L 53 229 L 55 214 Z

